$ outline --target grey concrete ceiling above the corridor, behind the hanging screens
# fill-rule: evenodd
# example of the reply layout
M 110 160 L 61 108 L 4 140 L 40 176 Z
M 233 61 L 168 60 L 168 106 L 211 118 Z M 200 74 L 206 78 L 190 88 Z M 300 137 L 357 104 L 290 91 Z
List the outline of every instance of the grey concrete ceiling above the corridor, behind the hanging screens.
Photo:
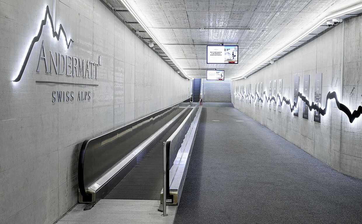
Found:
M 223 69 L 249 72 L 324 17 L 361 0 L 127 0 L 132 10 L 191 78 Z M 205 30 L 200 30 L 200 28 Z M 239 64 L 206 64 L 206 45 L 239 45 Z

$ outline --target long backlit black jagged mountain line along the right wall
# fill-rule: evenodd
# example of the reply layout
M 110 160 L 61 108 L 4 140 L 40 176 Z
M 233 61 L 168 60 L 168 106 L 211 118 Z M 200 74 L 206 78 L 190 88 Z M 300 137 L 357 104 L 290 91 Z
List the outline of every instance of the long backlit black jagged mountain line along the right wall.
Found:
M 253 99 L 253 101 L 255 101 L 256 99 L 259 99 L 261 101 L 261 103 L 264 103 L 264 99 L 262 97 L 260 97 L 259 94 L 257 94 L 257 93 L 256 93 L 256 96 L 254 96 L 251 93 L 246 94 L 246 96 L 244 94 L 238 94 L 238 93 L 236 93 L 236 95 L 238 96 L 239 99 L 250 98 L 250 99 Z M 334 99 L 336 101 L 336 105 L 337 105 L 338 109 L 340 111 L 344 112 L 348 116 L 349 122 L 351 122 L 351 123 L 354 121 L 354 119 L 356 119 L 357 117 L 359 117 L 362 114 L 362 106 L 358 106 L 357 110 L 354 110 L 351 113 L 350 109 L 348 109 L 348 107 L 346 107 L 346 105 L 344 105 L 338 101 L 336 92 L 328 92 L 327 99 L 325 100 L 324 109 L 319 107 L 319 105 L 315 104 L 314 102 L 312 102 L 312 104 L 311 104 L 309 102 L 309 100 L 307 100 L 306 96 L 303 96 L 303 94 L 300 92 L 298 92 L 298 98 L 297 98 L 296 102 L 293 102 L 293 103 L 291 103 L 290 99 L 287 99 L 285 96 L 283 96 L 283 98 L 281 99 L 281 96 L 279 94 L 277 95 L 277 97 L 275 97 L 275 96 L 266 97 L 266 93 L 264 91 L 263 95 L 265 95 L 266 102 L 271 103 L 271 101 L 274 101 L 275 105 L 277 105 L 277 99 L 279 99 L 279 101 L 281 102 L 281 105 L 283 105 L 283 102 L 285 102 L 287 105 L 289 105 L 290 112 L 294 111 L 294 108 L 298 105 L 298 99 L 300 98 L 308 106 L 310 111 L 312 111 L 314 109 L 318 113 L 320 113 L 320 115 L 323 115 L 323 116 L 327 113 L 328 100 L 331 100 L 331 99 Z

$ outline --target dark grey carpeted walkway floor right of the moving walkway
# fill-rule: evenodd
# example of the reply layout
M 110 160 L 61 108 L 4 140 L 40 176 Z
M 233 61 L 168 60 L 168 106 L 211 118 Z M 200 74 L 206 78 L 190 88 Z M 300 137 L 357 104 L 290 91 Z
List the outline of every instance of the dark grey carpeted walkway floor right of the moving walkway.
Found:
M 362 223 L 362 180 L 230 103 L 204 103 L 174 223 Z

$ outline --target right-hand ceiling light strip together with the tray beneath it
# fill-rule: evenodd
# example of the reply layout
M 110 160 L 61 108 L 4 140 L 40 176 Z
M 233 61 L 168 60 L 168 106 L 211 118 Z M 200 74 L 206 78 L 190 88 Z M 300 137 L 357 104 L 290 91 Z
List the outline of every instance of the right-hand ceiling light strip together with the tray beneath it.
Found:
M 280 57 L 286 55 L 289 53 L 292 49 L 295 49 L 299 47 L 301 44 L 307 42 L 314 36 L 319 35 L 324 30 L 328 29 L 327 21 L 331 21 L 334 18 L 348 18 L 351 16 L 357 16 L 357 14 L 362 13 L 362 4 L 355 5 L 354 7 L 350 7 L 348 9 L 342 10 L 338 13 L 334 13 L 331 16 L 325 17 L 323 20 L 321 20 L 319 23 L 317 23 L 315 26 L 313 26 L 310 30 L 308 30 L 306 33 L 299 36 L 298 39 L 295 39 L 291 43 L 287 44 L 285 47 L 283 47 L 281 50 L 277 51 L 273 56 L 268 57 L 267 60 L 264 60 L 264 63 L 261 63 L 260 65 L 256 66 L 254 69 L 250 70 L 249 72 L 238 76 L 236 78 L 231 78 L 230 80 L 235 81 L 242 78 L 247 78 L 251 76 L 253 73 L 257 72 L 258 70 L 264 68 L 266 65 L 271 64 L 271 61 L 274 59 L 279 59 Z M 311 35 L 308 40 L 303 40 L 308 37 L 308 35 Z M 300 42 L 300 43 L 298 43 Z M 289 48 L 289 49 L 288 49 Z M 292 49 L 291 49 L 292 48 Z

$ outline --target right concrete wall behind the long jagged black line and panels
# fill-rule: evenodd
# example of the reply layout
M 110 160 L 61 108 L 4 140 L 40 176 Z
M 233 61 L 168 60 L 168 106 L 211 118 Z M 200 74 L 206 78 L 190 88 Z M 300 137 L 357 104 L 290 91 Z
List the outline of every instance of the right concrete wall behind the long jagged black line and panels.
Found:
M 282 96 L 294 99 L 294 77 L 299 76 L 299 91 L 303 93 L 303 76 L 310 75 L 309 99 L 314 101 L 315 74 L 323 73 L 322 107 L 329 91 L 336 91 L 338 99 L 351 111 L 362 105 L 362 17 L 345 20 L 310 43 L 296 49 L 274 64 L 256 72 L 247 79 L 232 82 L 232 102 L 235 108 L 258 121 L 281 137 L 302 148 L 333 169 L 362 179 L 362 118 L 351 124 L 334 100 L 321 116 L 321 123 L 302 118 L 304 102 L 299 100 L 299 117 L 290 107 L 282 105 L 277 111 L 264 103 L 247 103 L 235 97 L 237 87 L 263 82 L 263 91 L 269 92 L 269 81 L 283 79 Z M 343 58 L 343 60 L 342 60 Z M 342 65 L 343 64 L 343 69 Z M 273 90 L 274 91 L 274 90 Z M 242 128 L 242 127 L 241 127 Z

